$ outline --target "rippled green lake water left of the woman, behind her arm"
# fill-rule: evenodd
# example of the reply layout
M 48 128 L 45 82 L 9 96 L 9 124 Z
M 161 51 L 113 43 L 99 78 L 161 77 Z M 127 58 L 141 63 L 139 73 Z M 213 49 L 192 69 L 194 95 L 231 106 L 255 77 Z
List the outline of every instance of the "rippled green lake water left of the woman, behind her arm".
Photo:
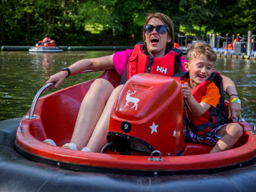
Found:
M 61 53 L 0 52 L 0 121 L 22 117 L 49 77 L 61 68 L 85 58 L 113 54 L 113 51 L 72 51 Z M 102 72 L 92 72 L 68 77 L 57 90 L 82 83 Z M 42 95 L 56 91 L 45 90 Z

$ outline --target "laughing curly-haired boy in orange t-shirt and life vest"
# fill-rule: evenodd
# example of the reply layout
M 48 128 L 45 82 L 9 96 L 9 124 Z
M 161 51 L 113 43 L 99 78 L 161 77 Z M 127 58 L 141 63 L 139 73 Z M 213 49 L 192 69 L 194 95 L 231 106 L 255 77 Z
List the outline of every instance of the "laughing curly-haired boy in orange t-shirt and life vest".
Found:
M 228 124 L 223 106 L 217 106 L 217 104 L 220 104 L 221 95 L 218 86 L 213 81 L 207 84 L 205 94 L 202 94 L 202 90 L 199 90 L 200 93 L 195 90 L 200 84 L 202 86 L 202 83 L 209 79 L 212 72 L 215 71 L 216 53 L 212 50 L 211 45 L 197 42 L 189 47 L 187 54 L 188 62 L 184 63 L 184 67 L 189 72 L 189 78 L 183 79 L 180 84 L 182 84 L 183 96 L 188 104 L 189 121 L 193 125 L 198 124 L 196 127 L 200 126 L 202 128 L 203 124 L 205 124 L 205 119 L 209 120 L 211 112 L 207 112 L 209 112 L 210 108 L 216 108 L 216 113 L 218 114 L 214 114 L 212 118 L 215 119 L 215 116 L 221 115 L 224 115 L 224 117 L 221 117 L 219 121 L 215 122 L 215 125 L 212 125 L 211 131 L 201 131 L 200 129 L 200 132 L 202 132 L 200 135 L 198 135 L 198 132 L 198 134 L 193 132 L 188 123 L 185 131 L 186 140 L 192 143 L 215 145 L 210 153 L 228 150 L 241 138 L 243 127 L 237 123 Z M 198 100 L 200 100 L 200 103 Z M 234 100 L 240 102 L 239 99 L 231 99 L 230 104 Z M 220 110 L 223 110 L 222 113 L 218 112 Z M 196 121 L 195 118 L 197 119 Z M 205 125 L 205 129 L 209 129 L 208 126 Z

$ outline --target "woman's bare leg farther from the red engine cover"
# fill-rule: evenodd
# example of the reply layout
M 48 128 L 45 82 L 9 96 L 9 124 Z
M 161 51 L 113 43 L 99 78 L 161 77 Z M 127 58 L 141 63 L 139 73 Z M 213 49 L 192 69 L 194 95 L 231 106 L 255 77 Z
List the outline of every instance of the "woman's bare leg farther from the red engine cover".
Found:
M 96 79 L 86 93 L 70 141 L 76 144 L 77 150 L 86 147 L 113 90 L 114 87 L 109 81 Z

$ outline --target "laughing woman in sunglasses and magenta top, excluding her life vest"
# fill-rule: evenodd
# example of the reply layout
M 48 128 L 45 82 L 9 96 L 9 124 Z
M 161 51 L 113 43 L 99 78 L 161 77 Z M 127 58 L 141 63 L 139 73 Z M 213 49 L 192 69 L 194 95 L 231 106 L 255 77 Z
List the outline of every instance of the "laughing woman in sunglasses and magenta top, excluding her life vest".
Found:
M 146 18 L 145 25 L 150 24 L 154 27 L 159 25 L 168 26 L 168 33 L 159 33 L 159 28 L 151 28 L 151 31 L 143 31 L 144 50 L 148 56 L 157 58 L 163 57 L 174 47 L 174 27 L 173 22 L 167 15 L 163 13 L 152 13 Z M 163 31 L 161 31 L 163 32 Z M 52 83 L 52 88 L 58 88 L 66 77 L 70 74 L 76 74 L 88 69 L 110 70 L 116 69 L 120 76 L 123 75 L 128 60 L 132 54 L 131 49 L 116 52 L 111 56 L 102 58 L 84 59 L 77 61 L 64 68 L 61 72 L 54 74 L 46 83 Z M 180 59 L 175 59 L 174 74 L 180 72 Z M 223 76 L 223 82 L 226 92 L 237 94 L 236 87 L 232 80 Z M 122 90 L 123 85 L 114 88 L 109 81 L 105 79 L 96 79 L 90 90 L 86 93 L 81 108 L 77 116 L 76 125 L 70 143 L 63 145 L 64 148 L 100 152 L 102 147 L 106 145 L 106 135 L 108 132 L 109 118 L 111 109 L 116 97 Z M 241 113 L 239 104 L 231 104 L 229 108 L 229 117 L 236 118 Z M 51 140 L 44 141 L 53 144 Z

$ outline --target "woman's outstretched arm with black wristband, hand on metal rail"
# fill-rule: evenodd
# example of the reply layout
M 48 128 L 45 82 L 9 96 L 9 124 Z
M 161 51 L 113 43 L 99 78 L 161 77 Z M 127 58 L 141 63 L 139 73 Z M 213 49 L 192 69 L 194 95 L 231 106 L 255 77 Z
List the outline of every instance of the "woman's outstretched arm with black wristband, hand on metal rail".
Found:
M 113 64 L 113 54 L 110 56 L 104 56 L 101 58 L 80 60 L 70 65 L 70 67 L 68 68 L 71 74 L 76 74 L 78 72 L 82 72 L 88 69 L 102 69 L 102 70 L 113 69 L 115 68 Z M 60 84 L 63 83 L 67 75 L 68 75 L 68 72 L 66 70 L 58 72 L 57 74 L 54 74 L 53 76 L 51 76 L 46 83 L 55 82 L 54 84 L 52 84 L 52 88 L 58 88 L 58 86 L 60 86 Z

